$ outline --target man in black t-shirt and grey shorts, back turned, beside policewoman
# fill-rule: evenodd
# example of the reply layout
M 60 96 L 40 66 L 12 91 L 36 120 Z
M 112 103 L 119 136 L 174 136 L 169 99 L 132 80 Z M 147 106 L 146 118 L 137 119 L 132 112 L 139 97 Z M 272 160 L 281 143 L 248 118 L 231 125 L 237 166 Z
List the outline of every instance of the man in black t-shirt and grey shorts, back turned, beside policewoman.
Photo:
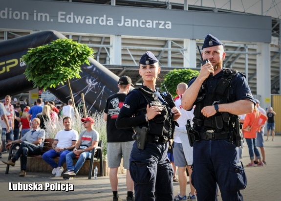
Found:
M 107 154 L 109 180 L 113 192 L 113 201 L 122 201 L 118 195 L 118 167 L 120 166 L 121 158 L 123 156 L 123 167 L 127 170 L 127 201 L 134 201 L 133 197 L 133 181 L 129 172 L 129 159 L 134 134 L 131 129 L 117 129 L 115 121 L 123 106 L 125 97 L 130 91 L 131 79 L 128 76 L 120 77 L 118 81 L 119 91 L 108 97 L 107 105 L 104 111 L 104 120 L 107 121 Z

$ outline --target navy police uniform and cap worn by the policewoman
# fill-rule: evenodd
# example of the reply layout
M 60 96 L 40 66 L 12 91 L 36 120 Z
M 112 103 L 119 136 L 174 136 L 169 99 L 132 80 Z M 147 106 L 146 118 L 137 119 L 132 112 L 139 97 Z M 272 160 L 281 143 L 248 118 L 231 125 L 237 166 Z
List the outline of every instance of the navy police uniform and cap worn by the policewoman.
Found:
M 151 65 L 158 62 L 151 52 L 144 54 L 140 60 L 140 64 Z M 144 89 L 134 89 L 126 96 L 123 107 L 121 108 L 116 121 L 117 128 L 128 128 L 134 126 L 148 126 L 152 121 L 154 126 L 150 127 L 147 134 L 145 148 L 138 148 L 135 141 L 130 155 L 130 175 L 134 181 L 135 199 L 142 201 L 172 201 L 173 200 L 173 168 L 167 157 L 168 139 L 166 126 L 171 121 L 168 115 L 171 113 L 172 106 L 168 104 L 165 96 L 161 91 L 152 91 L 151 89 L 141 86 Z M 147 95 L 143 94 L 147 91 Z M 144 113 L 149 104 L 148 98 L 156 97 L 154 104 L 163 105 L 163 115 L 160 118 L 156 115 L 149 122 L 146 121 Z M 155 96 L 156 95 L 156 96 Z M 170 110 L 170 111 L 169 111 Z M 132 117 L 133 116 L 133 117 Z M 132 117 L 132 118 L 131 118 Z M 121 120 L 120 120 L 121 119 Z M 157 121 L 160 121 L 157 123 Z M 162 124 L 163 122 L 163 124 Z

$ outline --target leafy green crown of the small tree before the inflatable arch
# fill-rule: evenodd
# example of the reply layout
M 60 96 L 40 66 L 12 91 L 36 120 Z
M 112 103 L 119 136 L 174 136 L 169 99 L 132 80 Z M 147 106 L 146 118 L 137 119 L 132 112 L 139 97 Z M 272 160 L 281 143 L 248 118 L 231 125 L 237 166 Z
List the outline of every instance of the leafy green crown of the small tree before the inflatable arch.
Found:
M 82 64 L 93 58 L 93 49 L 72 39 L 57 39 L 50 44 L 30 48 L 23 56 L 24 75 L 34 87 L 55 88 L 67 80 L 81 78 Z

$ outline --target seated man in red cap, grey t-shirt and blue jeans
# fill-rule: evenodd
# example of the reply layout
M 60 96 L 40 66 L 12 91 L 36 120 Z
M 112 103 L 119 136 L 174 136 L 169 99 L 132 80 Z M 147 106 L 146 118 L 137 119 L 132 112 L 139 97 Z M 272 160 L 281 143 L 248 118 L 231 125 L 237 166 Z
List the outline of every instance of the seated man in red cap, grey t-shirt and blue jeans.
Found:
M 91 117 L 82 118 L 86 130 L 82 131 L 79 135 L 79 139 L 72 152 L 68 153 L 66 157 L 67 172 L 64 173 L 63 178 L 69 179 L 75 177 L 78 171 L 81 169 L 85 160 L 91 158 L 91 151 L 98 146 L 100 134 L 93 129 L 94 120 Z M 73 158 L 79 157 L 75 166 L 73 166 Z

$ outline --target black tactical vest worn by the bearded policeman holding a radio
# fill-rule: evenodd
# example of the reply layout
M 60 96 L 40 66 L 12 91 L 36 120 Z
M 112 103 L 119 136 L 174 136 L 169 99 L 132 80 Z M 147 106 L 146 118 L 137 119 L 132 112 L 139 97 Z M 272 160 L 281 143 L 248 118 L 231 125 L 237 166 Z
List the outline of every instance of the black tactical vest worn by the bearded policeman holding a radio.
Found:
M 198 127 L 205 127 L 208 130 L 215 130 L 216 132 L 233 130 L 237 115 L 228 112 L 217 112 L 211 117 L 205 117 L 201 110 L 205 106 L 215 104 L 229 103 L 229 90 L 232 83 L 233 76 L 238 73 L 232 68 L 223 69 L 222 78 L 216 85 L 213 93 L 209 94 L 206 88 L 206 81 L 203 82 L 199 90 L 198 96 L 195 100 L 195 111 L 193 122 Z

